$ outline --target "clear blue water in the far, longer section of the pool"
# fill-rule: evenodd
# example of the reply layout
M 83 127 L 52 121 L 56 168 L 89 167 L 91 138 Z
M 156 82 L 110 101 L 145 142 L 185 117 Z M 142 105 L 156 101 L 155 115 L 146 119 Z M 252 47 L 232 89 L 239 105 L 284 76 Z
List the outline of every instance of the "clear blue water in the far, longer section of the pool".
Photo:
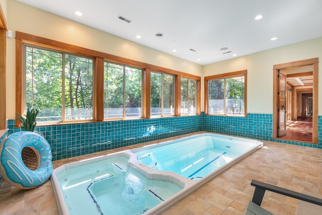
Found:
M 252 142 L 233 138 L 198 135 L 195 138 L 171 141 L 157 148 L 151 146 L 132 152 L 141 163 L 155 170 L 172 171 L 198 180 L 243 155 L 252 146 Z

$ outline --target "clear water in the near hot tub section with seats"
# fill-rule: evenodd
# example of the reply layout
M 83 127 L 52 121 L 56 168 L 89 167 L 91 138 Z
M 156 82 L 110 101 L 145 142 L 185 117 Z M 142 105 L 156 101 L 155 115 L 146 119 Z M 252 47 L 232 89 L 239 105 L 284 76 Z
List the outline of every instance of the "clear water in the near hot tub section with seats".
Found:
M 143 214 L 183 189 L 151 180 L 117 156 L 62 170 L 57 174 L 68 214 Z

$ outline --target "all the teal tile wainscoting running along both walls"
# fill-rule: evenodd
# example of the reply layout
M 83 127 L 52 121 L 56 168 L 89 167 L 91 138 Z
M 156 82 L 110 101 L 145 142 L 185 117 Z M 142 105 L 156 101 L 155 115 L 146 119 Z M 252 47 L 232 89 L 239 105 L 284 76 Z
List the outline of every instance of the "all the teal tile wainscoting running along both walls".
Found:
M 202 113 L 196 116 L 37 126 L 35 131 L 49 142 L 53 161 L 197 131 L 322 148 L 322 116 L 318 117 L 319 145 L 271 138 L 272 120 L 272 114 L 248 113 L 247 117 L 231 117 Z M 8 120 L 7 126 L 9 131 L 0 137 L 1 141 L 20 131 L 20 128 L 15 128 L 14 119 Z

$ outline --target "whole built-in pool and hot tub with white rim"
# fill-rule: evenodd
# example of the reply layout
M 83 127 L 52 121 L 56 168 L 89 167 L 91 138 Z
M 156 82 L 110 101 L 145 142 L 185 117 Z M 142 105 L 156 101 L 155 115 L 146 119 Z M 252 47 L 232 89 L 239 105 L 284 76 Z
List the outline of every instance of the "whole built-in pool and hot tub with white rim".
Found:
M 203 133 L 65 164 L 51 180 L 60 214 L 159 214 L 263 143 Z

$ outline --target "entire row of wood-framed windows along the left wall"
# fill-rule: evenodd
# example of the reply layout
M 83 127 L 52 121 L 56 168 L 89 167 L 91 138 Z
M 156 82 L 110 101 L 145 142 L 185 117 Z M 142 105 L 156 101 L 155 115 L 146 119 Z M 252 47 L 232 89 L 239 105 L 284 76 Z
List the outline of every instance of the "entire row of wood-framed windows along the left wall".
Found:
M 42 125 L 200 114 L 200 79 L 16 31 L 15 112 Z

